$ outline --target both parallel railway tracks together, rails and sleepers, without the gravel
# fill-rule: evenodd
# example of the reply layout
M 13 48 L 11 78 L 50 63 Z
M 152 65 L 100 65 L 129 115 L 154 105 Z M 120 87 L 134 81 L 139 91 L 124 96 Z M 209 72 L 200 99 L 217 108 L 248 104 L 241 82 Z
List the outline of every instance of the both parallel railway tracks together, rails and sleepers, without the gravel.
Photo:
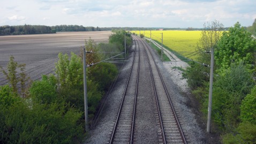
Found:
M 139 37 L 133 36 L 133 39 L 135 39 L 134 42 L 138 47 L 135 47 L 130 74 L 109 143 L 136 142 L 133 140 L 133 132 L 136 131 L 134 130 L 134 123 L 140 70 L 140 51 L 146 53 L 146 60 L 152 79 L 153 99 L 157 109 L 156 117 L 159 119 L 159 122 L 156 123 L 160 125 L 162 138 L 159 143 L 187 143 L 152 51 L 150 51 L 148 44 Z

